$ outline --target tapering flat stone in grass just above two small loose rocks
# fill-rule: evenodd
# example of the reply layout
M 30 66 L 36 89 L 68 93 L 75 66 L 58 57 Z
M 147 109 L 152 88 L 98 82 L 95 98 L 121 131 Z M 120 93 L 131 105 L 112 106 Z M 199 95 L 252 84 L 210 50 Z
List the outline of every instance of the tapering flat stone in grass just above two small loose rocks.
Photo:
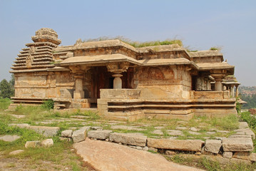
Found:
M 29 126 L 28 128 L 36 131 L 36 133 L 41 133 L 46 137 L 53 137 L 54 135 L 57 135 L 58 130 L 60 130 L 58 127 L 48 126 Z

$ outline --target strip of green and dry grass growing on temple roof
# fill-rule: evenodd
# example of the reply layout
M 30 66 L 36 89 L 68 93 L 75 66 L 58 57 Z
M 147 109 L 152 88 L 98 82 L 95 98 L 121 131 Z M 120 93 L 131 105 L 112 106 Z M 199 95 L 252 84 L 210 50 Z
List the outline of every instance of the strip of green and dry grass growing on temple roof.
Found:
M 88 42 L 88 41 L 106 41 L 106 40 L 115 40 L 118 39 L 120 41 L 123 41 L 125 43 L 128 43 L 130 46 L 133 46 L 135 48 L 143 48 L 146 46 L 160 46 L 160 45 L 170 45 L 170 44 L 178 44 L 179 46 L 183 46 L 183 42 L 178 39 L 165 39 L 165 41 L 131 41 L 129 38 L 124 38 L 123 36 L 116 36 L 116 37 L 99 37 L 99 38 L 89 38 L 84 40 L 83 42 Z

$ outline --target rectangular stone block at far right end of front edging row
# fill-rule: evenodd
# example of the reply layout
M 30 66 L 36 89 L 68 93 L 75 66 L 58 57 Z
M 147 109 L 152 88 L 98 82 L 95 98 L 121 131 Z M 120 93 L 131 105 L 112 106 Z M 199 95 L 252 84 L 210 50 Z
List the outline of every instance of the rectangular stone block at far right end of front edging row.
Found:
M 252 151 L 252 138 L 225 138 L 222 140 L 222 147 L 225 152 Z

